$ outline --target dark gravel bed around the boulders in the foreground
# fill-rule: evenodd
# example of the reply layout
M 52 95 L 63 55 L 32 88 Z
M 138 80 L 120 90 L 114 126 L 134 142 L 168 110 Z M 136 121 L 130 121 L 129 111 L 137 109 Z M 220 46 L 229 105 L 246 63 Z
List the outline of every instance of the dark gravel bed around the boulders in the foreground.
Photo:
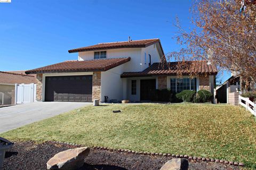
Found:
M 29 148 L 29 149 L 28 149 Z M 75 146 L 53 143 L 36 144 L 34 142 L 17 142 L 7 150 L 3 169 L 46 169 L 46 162 L 60 151 L 76 148 Z M 171 157 L 130 154 L 91 149 L 85 164 L 79 170 L 156 170 L 160 169 Z M 190 170 L 231 170 L 237 166 L 211 162 L 189 162 Z

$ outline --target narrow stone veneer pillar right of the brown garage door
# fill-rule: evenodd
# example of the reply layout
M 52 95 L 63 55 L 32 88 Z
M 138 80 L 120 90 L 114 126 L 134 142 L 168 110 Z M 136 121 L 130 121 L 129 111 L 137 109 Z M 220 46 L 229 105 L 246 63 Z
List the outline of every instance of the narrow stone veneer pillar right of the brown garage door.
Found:
M 92 100 L 100 99 L 101 72 L 93 72 L 92 76 Z

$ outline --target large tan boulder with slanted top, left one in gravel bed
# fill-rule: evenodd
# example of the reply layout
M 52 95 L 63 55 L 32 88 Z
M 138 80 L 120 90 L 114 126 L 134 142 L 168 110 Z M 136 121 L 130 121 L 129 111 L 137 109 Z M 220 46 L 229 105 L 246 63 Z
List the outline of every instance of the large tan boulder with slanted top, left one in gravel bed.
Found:
M 90 152 L 89 147 L 68 149 L 54 155 L 47 162 L 47 169 L 71 170 L 84 165 L 84 158 Z

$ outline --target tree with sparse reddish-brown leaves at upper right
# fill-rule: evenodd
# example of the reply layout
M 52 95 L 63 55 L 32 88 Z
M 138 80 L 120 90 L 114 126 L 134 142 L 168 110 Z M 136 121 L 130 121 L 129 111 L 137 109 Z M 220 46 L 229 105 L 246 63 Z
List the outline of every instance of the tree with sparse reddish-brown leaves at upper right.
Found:
M 244 3 L 244 4 L 243 4 Z M 221 69 L 256 80 L 256 1 L 199 0 L 191 7 L 193 29 L 183 29 L 177 18 L 179 52 L 176 61 L 206 60 Z M 168 60 L 167 59 L 167 60 Z M 180 62 L 183 70 L 185 62 Z M 182 72 L 180 72 L 182 74 Z

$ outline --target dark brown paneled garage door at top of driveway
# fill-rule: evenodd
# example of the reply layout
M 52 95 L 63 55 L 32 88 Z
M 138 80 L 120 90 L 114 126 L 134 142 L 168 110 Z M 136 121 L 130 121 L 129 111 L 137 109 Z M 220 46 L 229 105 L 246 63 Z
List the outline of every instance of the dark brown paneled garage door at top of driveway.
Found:
M 45 77 L 45 101 L 92 101 L 92 75 Z

